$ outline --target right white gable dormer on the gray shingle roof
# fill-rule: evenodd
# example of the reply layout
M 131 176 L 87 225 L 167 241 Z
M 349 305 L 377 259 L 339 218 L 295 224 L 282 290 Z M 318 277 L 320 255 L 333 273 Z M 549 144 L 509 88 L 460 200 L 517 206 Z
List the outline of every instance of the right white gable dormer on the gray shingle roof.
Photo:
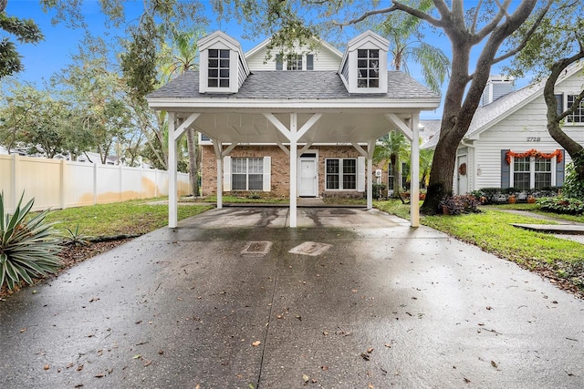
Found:
M 349 41 L 339 75 L 349 93 L 387 93 L 387 52 L 390 42 L 366 31 Z

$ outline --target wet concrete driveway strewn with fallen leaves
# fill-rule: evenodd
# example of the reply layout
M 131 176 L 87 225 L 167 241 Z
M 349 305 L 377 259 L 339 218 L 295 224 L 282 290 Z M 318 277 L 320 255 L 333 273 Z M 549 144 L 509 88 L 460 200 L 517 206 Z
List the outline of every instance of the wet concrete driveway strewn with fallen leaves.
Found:
M 537 274 L 377 210 L 286 218 L 210 210 L 0 302 L 0 387 L 584 386 L 584 302 Z

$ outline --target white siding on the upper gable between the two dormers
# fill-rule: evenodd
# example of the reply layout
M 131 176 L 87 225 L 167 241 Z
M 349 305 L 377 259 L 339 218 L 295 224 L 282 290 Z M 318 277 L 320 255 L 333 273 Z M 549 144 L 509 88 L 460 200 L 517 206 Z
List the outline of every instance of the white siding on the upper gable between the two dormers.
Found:
M 297 46 L 295 47 L 295 52 L 305 54 L 303 58 L 304 67 L 306 67 L 306 54 L 314 54 L 314 70 L 339 69 L 340 57 L 322 46 L 316 46 L 314 49 L 308 46 Z M 253 56 L 248 56 L 245 59 L 251 71 L 276 70 L 276 53 L 277 49 L 272 49 L 270 52 L 271 58 L 266 59 L 267 49 L 264 47 L 254 53 Z

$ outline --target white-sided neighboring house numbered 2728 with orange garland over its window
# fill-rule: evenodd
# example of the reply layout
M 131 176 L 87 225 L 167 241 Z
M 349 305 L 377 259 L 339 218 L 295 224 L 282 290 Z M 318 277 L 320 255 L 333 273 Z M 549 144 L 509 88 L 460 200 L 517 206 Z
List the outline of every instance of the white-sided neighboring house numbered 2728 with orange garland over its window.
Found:
M 582 63 L 559 77 L 555 93 L 558 109 L 570 107 L 584 85 Z M 562 186 L 568 153 L 547 132 L 545 81 L 512 91 L 512 81 L 491 77 L 483 106 L 474 114 L 456 154 L 454 193 L 483 188 L 545 189 Z M 570 115 L 562 128 L 584 144 L 584 106 Z M 433 148 L 438 135 L 422 148 Z

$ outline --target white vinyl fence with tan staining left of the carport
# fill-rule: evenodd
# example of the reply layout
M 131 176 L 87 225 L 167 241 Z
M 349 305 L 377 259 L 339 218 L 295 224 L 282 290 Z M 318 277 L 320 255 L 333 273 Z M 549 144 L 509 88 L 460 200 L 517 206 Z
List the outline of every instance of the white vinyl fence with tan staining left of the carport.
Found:
M 177 192 L 189 193 L 189 175 L 179 173 Z M 5 211 L 35 198 L 34 210 L 80 207 L 168 195 L 168 172 L 68 160 L 0 155 L 0 192 Z

